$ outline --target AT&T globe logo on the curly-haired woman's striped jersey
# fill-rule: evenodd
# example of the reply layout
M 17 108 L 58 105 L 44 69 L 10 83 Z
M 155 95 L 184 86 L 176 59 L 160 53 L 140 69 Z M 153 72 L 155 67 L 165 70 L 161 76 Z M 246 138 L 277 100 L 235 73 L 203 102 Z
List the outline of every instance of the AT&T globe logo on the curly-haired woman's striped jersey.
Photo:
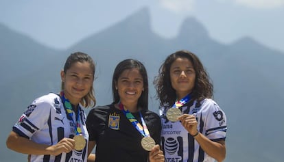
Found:
M 182 160 L 182 157 L 178 154 L 178 150 L 180 148 L 180 144 L 178 140 L 169 137 L 165 140 L 164 150 L 165 153 L 168 154 L 165 159 L 167 162 L 177 162 Z

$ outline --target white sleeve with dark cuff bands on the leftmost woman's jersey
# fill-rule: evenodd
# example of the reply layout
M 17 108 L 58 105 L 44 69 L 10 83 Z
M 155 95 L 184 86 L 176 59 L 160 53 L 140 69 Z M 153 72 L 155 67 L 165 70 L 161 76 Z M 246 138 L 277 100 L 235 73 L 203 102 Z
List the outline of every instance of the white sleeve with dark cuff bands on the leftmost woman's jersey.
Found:
M 47 123 L 51 109 L 51 101 L 47 96 L 36 98 L 14 124 L 13 131 L 21 137 L 32 137 Z

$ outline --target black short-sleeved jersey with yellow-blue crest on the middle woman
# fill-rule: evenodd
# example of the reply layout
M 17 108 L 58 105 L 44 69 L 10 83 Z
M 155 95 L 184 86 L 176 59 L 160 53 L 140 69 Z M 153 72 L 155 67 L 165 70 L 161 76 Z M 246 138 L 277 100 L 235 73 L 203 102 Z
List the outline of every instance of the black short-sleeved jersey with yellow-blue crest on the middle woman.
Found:
M 132 115 L 141 124 L 140 113 Z M 141 110 L 150 136 L 156 144 L 161 142 L 161 119 L 158 114 Z M 115 105 L 95 107 L 88 113 L 86 125 L 89 141 L 96 141 L 95 161 L 146 162 L 148 152 L 141 146 L 143 135 L 135 129 L 126 115 Z M 141 124 L 142 125 L 142 124 Z

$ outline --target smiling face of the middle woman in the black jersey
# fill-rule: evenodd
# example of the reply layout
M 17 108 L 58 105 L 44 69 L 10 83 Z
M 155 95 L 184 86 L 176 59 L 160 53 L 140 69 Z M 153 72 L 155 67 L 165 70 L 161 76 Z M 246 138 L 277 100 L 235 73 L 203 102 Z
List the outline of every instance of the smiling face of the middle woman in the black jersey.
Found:
M 117 79 L 116 87 L 123 105 L 137 105 L 144 90 L 143 77 L 137 68 L 124 70 Z

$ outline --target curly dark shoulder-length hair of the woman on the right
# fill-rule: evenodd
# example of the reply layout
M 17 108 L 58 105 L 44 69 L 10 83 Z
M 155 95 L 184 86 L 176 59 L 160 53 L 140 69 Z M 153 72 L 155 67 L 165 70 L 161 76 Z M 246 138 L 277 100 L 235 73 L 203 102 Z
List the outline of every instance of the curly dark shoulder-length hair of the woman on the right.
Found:
M 196 71 L 196 81 L 191 92 L 191 100 L 200 101 L 204 98 L 212 98 L 213 83 L 197 55 L 185 50 L 176 51 L 165 59 L 165 62 L 159 68 L 158 76 L 155 77 L 153 82 L 156 88 L 156 98 L 160 100 L 161 107 L 171 106 L 176 101 L 176 90 L 171 86 L 169 70 L 171 64 L 177 58 L 189 59 Z

